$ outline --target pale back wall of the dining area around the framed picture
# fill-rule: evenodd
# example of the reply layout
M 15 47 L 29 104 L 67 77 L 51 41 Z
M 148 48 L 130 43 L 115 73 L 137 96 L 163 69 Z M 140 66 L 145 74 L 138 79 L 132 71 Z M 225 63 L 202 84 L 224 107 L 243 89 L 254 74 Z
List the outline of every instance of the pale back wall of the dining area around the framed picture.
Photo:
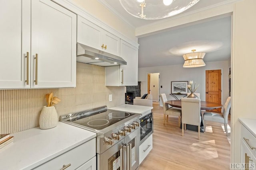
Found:
M 210 62 L 206 66 L 197 68 L 183 68 L 182 65 L 171 66 L 156 66 L 139 68 L 138 80 L 141 81 L 141 93 L 146 93 L 147 90 L 147 74 L 150 72 L 160 73 L 160 93 L 165 93 L 168 99 L 172 97 L 171 81 L 189 81 L 193 80 L 196 84 L 200 84 L 197 93 L 200 93 L 201 100 L 205 100 L 205 70 L 222 70 L 222 104 L 228 98 L 228 72 L 229 61 Z M 174 98 L 172 99 L 174 100 Z M 224 101 L 224 102 L 223 102 Z

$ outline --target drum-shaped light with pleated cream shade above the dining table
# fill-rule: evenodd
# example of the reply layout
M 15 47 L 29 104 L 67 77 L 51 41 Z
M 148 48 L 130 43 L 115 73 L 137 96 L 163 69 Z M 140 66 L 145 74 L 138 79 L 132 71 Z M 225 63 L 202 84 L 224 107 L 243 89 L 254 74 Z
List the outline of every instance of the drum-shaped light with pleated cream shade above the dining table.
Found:
M 201 67 L 205 66 L 204 63 L 204 55 L 205 53 L 202 52 L 196 52 L 196 50 L 191 50 L 192 53 L 184 54 L 183 58 L 185 60 L 183 67 L 185 68 L 191 68 L 191 67 Z

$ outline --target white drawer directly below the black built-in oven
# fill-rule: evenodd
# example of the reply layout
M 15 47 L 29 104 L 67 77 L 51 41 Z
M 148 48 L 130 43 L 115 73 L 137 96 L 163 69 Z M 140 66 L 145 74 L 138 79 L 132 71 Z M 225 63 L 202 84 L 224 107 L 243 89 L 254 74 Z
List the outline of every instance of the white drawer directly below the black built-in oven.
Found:
M 146 139 L 141 145 L 140 145 L 140 164 L 146 158 L 150 150 L 153 148 L 153 135 L 150 135 L 148 139 Z

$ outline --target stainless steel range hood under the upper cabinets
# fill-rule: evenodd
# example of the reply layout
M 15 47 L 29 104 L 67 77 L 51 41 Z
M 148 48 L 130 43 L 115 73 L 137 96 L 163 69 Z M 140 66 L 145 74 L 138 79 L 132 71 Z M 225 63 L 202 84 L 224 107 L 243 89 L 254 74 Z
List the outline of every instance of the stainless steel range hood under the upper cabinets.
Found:
M 76 61 L 80 63 L 94 64 L 98 66 L 126 65 L 121 57 L 94 49 L 87 45 L 77 43 Z

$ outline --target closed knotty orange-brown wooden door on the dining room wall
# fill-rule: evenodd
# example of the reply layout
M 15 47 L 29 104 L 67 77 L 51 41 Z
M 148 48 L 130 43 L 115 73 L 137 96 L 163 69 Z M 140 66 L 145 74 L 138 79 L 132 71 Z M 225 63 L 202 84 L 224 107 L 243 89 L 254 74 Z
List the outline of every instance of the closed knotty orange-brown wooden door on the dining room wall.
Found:
M 221 70 L 206 70 L 206 102 L 221 104 Z M 221 112 L 221 108 L 210 111 Z

